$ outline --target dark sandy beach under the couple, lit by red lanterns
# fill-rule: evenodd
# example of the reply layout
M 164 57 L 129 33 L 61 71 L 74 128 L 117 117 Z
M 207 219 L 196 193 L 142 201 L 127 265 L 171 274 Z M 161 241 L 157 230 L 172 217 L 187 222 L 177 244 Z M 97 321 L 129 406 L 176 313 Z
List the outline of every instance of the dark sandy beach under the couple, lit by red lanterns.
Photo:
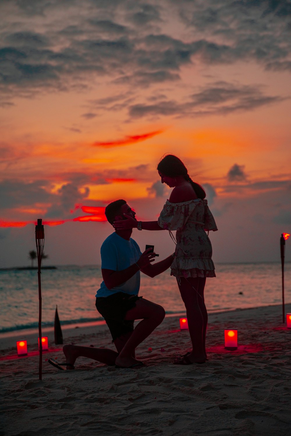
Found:
M 291 304 L 285 311 L 291 312 Z M 238 350 L 224 348 L 224 329 L 238 329 Z M 205 364 L 173 365 L 189 349 L 178 317 L 164 322 L 137 348 L 147 366 L 116 369 L 79 358 L 59 371 L 61 346 L 46 333 L 50 351 L 15 358 L 16 339 L 37 351 L 37 334 L 0 339 L 0 435 L 290 435 L 291 329 L 281 306 L 209 315 Z M 67 328 L 64 344 L 109 347 L 106 325 Z M 14 357 L 13 357 L 14 356 Z

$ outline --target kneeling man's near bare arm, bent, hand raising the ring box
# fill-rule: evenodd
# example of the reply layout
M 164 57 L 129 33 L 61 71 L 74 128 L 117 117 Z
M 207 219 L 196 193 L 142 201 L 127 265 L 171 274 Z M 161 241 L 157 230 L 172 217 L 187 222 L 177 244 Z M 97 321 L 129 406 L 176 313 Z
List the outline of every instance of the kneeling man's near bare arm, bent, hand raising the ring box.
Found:
M 143 271 L 144 268 L 151 266 L 151 262 L 154 262 L 154 255 L 151 254 L 150 251 L 151 248 L 145 250 L 136 263 L 130 265 L 126 269 L 122 269 L 121 271 L 113 271 L 112 269 L 101 269 L 102 277 L 106 288 L 109 290 L 115 288 L 116 286 L 119 286 L 127 280 L 131 279 L 131 277 L 134 276 L 137 271 Z

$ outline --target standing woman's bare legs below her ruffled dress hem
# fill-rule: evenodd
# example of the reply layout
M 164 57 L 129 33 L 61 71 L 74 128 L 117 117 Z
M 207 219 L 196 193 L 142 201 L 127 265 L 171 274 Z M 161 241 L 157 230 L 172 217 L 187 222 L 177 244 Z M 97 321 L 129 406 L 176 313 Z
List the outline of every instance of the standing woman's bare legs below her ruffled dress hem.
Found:
M 204 322 L 206 321 L 207 323 L 207 312 L 205 304 L 202 302 L 203 295 L 200 294 L 199 277 L 189 277 L 188 279 L 181 277 L 180 279 L 181 282 L 178 283 L 178 286 L 185 304 L 189 334 L 192 342 L 192 352 L 188 354 L 188 359 L 193 363 L 203 363 L 206 360 L 205 335 L 207 324 L 204 326 Z M 204 286 L 201 286 L 201 288 L 204 290 Z

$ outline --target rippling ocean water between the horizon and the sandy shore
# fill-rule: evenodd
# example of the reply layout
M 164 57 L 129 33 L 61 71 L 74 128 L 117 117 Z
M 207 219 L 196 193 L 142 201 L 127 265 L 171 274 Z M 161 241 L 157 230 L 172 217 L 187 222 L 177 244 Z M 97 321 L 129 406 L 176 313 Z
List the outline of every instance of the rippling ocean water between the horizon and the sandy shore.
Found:
M 209 312 L 268 306 L 282 301 L 281 263 L 216 264 L 206 280 Z M 285 303 L 291 303 L 291 263 L 286 263 Z M 53 326 L 55 307 L 62 325 L 103 320 L 95 307 L 102 281 L 99 266 L 59 266 L 41 272 L 42 326 Z M 161 304 L 166 313 L 185 313 L 170 270 L 150 278 L 141 274 L 140 296 Z M 38 326 L 37 270 L 0 271 L 0 333 Z

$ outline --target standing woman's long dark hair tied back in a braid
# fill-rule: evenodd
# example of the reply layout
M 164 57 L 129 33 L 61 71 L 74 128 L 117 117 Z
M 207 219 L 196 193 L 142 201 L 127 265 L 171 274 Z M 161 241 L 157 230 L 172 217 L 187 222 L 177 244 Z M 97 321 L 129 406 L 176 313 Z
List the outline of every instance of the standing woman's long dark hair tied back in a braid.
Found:
M 163 157 L 157 165 L 157 170 L 168 177 L 184 176 L 184 179 L 191 183 L 192 188 L 198 198 L 204 200 L 206 197 L 205 191 L 198 183 L 193 182 L 188 174 L 188 170 L 177 156 L 174 154 L 167 154 Z

